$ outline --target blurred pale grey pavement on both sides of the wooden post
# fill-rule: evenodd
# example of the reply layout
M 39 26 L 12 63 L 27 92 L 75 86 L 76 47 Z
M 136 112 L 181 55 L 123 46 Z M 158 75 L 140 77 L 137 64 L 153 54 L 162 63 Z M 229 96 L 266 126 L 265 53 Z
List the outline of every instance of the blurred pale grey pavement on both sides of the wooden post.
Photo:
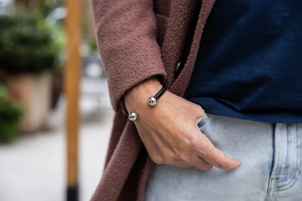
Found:
M 108 101 L 99 109 L 85 101 L 81 104 L 86 112 L 79 136 L 80 201 L 88 201 L 103 171 L 113 111 Z M 63 125 L 62 111 L 53 115 L 53 124 Z M 59 126 L 22 136 L 12 145 L 0 145 L 0 201 L 65 201 L 64 133 Z

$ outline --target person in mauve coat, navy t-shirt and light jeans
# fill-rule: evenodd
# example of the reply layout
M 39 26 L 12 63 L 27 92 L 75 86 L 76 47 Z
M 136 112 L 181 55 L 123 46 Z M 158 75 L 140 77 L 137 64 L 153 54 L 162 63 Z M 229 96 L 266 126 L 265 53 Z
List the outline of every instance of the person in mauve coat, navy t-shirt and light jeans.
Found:
M 116 111 L 93 201 L 302 200 L 302 1 L 92 2 Z

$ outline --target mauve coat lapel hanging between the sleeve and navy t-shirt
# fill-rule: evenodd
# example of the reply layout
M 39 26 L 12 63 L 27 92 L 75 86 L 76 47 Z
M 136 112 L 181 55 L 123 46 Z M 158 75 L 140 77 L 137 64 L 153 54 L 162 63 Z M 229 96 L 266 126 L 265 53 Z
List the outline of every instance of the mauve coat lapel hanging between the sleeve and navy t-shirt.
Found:
M 202 4 L 199 0 L 175 0 L 171 3 L 171 14 L 166 31 L 165 40 L 162 47 L 162 55 L 167 71 L 167 86 L 172 93 L 183 96 L 190 80 L 199 42 L 204 29 L 204 24 L 209 17 L 215 0 L 203 0 Z M 185 38 L 188 34 L 191 19 L 194 16 L 194 8 L 201 4 L 199 10 L 197 25 L 191 43 L 190 52 L 185 62 L 182 72 L 178 78 L 174 80 L 174 71 L 178 61 L 181 58 Z

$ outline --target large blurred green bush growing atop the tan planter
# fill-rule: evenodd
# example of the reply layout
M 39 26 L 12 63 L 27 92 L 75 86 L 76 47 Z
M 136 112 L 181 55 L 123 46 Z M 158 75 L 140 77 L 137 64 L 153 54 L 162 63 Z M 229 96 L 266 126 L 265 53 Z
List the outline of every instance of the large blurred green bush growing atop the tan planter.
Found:
M 0 16 L 0 70 L 39 74 L 57 69 L 62 42 L 40 14 Z

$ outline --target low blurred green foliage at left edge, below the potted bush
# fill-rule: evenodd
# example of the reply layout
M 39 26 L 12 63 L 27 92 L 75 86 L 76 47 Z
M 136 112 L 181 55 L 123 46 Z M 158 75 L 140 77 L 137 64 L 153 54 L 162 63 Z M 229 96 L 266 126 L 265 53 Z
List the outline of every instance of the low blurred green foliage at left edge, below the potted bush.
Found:
M 23 114 L 21 105 L 13 104 L 0 83 L 0 142 L 13 141 L 17 135 L 17 123 Z

